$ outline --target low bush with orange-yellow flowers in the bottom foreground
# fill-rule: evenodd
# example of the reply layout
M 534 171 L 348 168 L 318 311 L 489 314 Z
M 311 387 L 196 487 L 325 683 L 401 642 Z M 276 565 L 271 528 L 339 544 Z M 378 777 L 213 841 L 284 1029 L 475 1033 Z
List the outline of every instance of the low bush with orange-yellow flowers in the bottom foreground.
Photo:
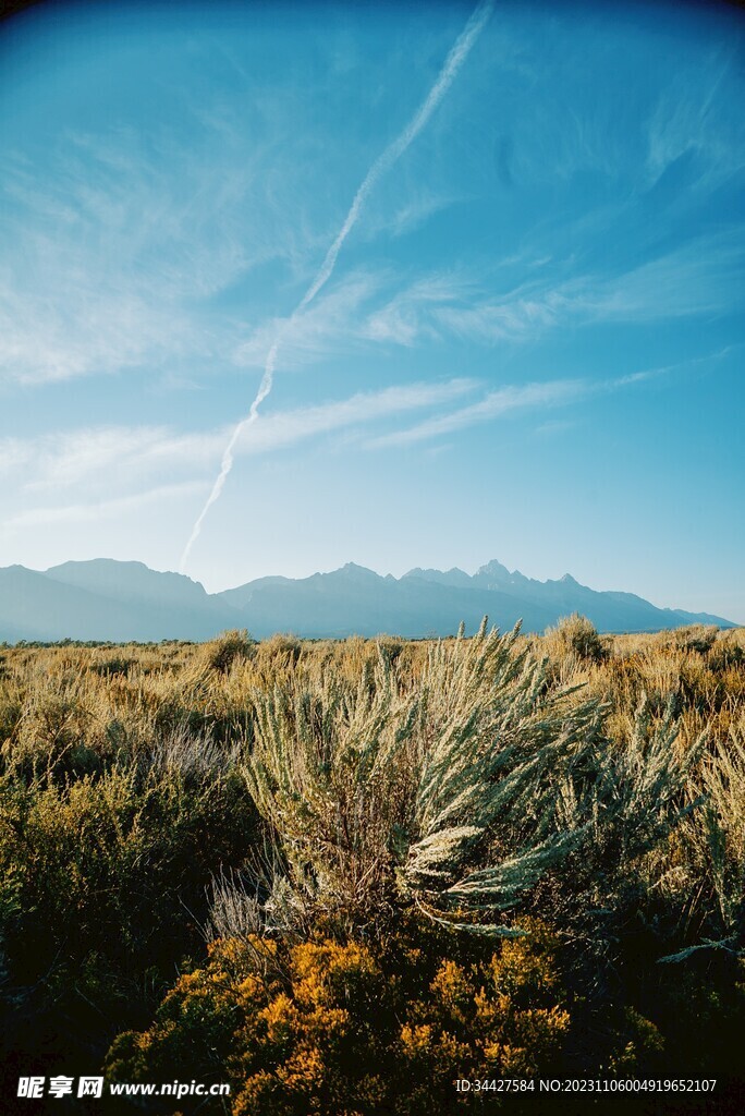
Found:
M 530 930 L 476 950 L 441 933 L 433 951 L 436 932 L 406 920 L 376 945 L 220 941 L 149 1030 L 117 1038 L 107 1074 L 226 1074 L 233 1116 L 456 1112 L 457 1078 L 561 1064 L 570 1017 L 557 941 L 540 924 Z

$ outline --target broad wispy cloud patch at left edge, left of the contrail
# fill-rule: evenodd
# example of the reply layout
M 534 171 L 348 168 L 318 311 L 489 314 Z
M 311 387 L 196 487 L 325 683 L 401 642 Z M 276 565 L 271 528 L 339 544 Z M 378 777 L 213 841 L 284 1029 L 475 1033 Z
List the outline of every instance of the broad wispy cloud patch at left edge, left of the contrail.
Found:
M 298 233 L 267 195 L 265 143 L 190 126 L 188 144 L 113 128 L 2 155 L 0 381 L 229 359 L 240 324 L 215 296 Z

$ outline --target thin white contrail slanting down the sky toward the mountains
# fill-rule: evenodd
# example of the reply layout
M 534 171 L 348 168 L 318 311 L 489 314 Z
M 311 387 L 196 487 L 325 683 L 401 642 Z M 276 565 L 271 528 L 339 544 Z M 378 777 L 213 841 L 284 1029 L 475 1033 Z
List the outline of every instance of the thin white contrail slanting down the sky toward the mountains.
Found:
M 468 22 L 461 31 L 461 35 L 456 39 L 451 52 L 445 59 L 445 64 L 437 76 L 437 80 L 433 85 L 432 89 L 423 100 L 419 108 L 416 110 L 409 123 L 406 125 L 403 132 L 386 147 L 383 154 L 378 155 L 377 160 L 367 172 L 362 184 L 355 194 L 355 199 L 349 208 L 346 220 L 337 237 L 326 253 L 326 258 L 321 263 L 316 278 L 311 282 L 310 287 L 302 296 L 301 300 L 298 302 L 297 307 L 292 311 L 289 318 L 286 318 L 278 330 L 277 338 L 267 354 L 267 360 L 264 364 L 264 374 L 261 377 L 261 384 L 259 385 L 259 391 L 257 392 L 257 397 L 251 404 L 251 410 L 249 411 L 245 419 L 242 419 L 233 431 L 231 439 L 225 446 L 222 455 L 222 464 L 220 466 L 220 473 L 215 480 L 212 491 L 207 497 L 206 503 L 202 508 L 200 516 L 192 528 L 192 533 L 188 537 L 188 542 L 184 547 L 184 552 L 181 556 L 180 570 L 183 574 L 186 562 L 188 561 L 188 556 L 192 547 L 194 546 L 196 539 L 199 538 L 200 531 L 202 530 L 202 523 L 204 518 L 212 507 L 220 499 L 220 493 L 222 492 L 228 475 L 233 468 L 233 451 L 235 444 L 240 439 L 243 431 L 252 426 L 253 423 L 259 417 L 259 407 L 267 398 L 272 389 L 272 383 L 274 381 L 274 369 L 277 367 L 277 357 L 280 350 L 282 340 L 287 334 L 287 330 L 292 325 L 294 319 L 302 314 L 302 311 L 309 306 L 310 302 L 316 298 L 318 292 L 331 278 L 333 268 L 336 267 L 337 258 L 341 251 L 342 244 L 351 230 L 354 229 L 362 208 L 370 195 L 370 192 L 383 177 L 383 175 L 390 170 L 390 167 L 396 163 L 400 156 L 404 154 L 406 148 L 413 143 L 417 137 L 422 128 L 427 124 L 429 117 L 435 112 L 441 100 L 449 89 L 451 85 L 458 75 L 461 67 L 468 57 L 471 49 L 483 31 L 488 18 L 492 13 L 492 8 L 494 7 L 493 0 L 481 0 L 475 10 L 473 11 Z

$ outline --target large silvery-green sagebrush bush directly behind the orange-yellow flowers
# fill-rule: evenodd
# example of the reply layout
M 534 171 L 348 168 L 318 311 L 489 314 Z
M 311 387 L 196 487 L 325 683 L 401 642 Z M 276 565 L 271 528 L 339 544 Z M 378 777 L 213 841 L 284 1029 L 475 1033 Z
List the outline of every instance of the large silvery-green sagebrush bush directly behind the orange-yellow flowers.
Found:
M 244 770 L 287 865 L 290 917 L 335 912 L 349 929 L 399 892 L 433 917 L 481 922 L 577 844 L 557 792 L 599 737 L 599 706 L 546 695 L 516 639 L 484 623 L 437 643 L 414 685 L 380 654 L 358 680 L 330 663 L 254 693 Z

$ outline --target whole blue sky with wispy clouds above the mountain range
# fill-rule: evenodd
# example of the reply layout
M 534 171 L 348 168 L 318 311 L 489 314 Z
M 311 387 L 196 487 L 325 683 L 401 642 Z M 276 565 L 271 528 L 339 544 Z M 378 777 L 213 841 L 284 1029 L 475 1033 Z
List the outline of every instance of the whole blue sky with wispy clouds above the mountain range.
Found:
M 0 566 L 499 558 L 745 623 L 744 48 L 696 4 L 0 23 Z

